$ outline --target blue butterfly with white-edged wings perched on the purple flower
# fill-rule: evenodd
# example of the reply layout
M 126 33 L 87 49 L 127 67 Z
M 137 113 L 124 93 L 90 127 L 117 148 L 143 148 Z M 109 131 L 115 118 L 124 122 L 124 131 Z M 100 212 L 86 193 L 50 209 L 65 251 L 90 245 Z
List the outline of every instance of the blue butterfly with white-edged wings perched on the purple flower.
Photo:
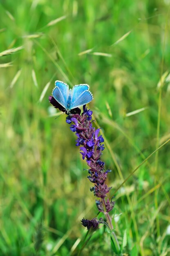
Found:
M 89 91 L 89 85 L 80 84 L 74 85 L 73 89 L 62 81 L 55 81 L 55 87 L 52 95 L 58 103 L 66 110 L 83 106 L 93 99 L 92 93 Z

